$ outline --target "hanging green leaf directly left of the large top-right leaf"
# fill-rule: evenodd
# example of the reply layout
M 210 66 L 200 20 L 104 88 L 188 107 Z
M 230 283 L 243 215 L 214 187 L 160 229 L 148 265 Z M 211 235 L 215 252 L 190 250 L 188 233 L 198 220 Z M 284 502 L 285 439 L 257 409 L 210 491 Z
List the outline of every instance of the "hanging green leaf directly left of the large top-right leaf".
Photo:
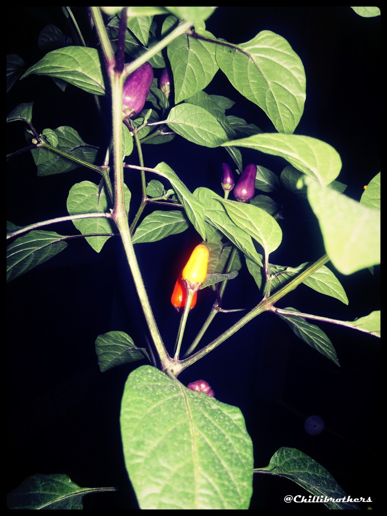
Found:
M 211 33 L 208 37 L 214 38 Z M 215 38 L 214 38 L 215 39 Z M 218 71 L 215 44 L 180 36 L 167 47 L 171 63 L 175 104 L 202 91 Z

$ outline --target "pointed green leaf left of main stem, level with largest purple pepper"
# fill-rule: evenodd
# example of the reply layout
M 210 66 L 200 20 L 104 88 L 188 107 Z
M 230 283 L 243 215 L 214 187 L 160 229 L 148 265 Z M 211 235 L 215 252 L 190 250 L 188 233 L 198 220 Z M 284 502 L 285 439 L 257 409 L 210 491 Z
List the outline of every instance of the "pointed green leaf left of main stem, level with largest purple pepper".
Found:
M 46 54 L 36 65 L 28 68 L 22 79 L 31 73 L 66 80 L 94 95 L 104 95 L 105 85 L 96 49 L 85 46 L 66 46 Z

